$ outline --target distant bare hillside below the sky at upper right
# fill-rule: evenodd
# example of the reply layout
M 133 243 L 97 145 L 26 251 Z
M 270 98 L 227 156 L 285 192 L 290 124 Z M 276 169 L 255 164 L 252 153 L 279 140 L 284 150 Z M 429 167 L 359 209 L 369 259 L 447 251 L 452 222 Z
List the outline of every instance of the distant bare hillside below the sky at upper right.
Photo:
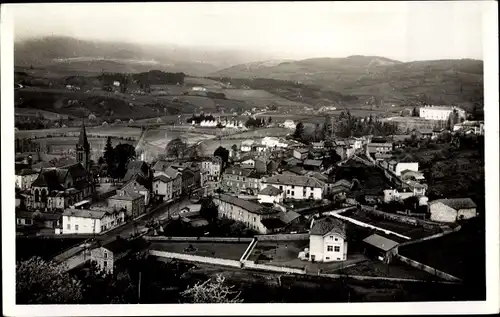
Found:
M 385 102 L 421 100 L 433 103 L 482 102 L 483 62 L 436 60 L 403 63 L 376 56 L 313 58 L 277 65 L 235 65 L 210 75 L 213 78 L 270 78 L 318 85 L 361 101 L 371 97 Z

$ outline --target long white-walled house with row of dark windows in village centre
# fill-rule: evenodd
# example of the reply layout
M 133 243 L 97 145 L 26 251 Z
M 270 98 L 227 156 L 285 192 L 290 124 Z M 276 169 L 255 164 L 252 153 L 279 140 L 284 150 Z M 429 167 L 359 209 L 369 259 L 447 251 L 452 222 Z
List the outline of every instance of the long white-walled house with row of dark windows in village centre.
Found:
M 308 176 L 274 175 L 266 178 L 263 184 L 279 188 L 284 192 L 284 198 L 315 199 L 323 198 L 325 183 Z

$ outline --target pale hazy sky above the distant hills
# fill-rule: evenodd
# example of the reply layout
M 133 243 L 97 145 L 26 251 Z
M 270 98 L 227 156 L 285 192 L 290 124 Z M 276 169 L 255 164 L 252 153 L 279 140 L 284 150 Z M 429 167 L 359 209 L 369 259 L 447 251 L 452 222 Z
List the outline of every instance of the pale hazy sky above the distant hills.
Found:
M 247 2 L 11 5 L 16 39 L 68 35 L 268 52 L 482 59 L 482 3 Z M 494 26 L 491 26 L 494 27 Z

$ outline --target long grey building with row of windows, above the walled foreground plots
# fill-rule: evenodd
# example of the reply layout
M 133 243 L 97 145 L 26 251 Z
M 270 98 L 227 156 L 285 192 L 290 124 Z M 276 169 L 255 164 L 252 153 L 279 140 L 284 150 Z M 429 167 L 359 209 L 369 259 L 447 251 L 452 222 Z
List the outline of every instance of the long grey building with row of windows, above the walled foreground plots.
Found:
M 248 228 L 261 234 L 269 232 L 262 223 L 262 220 L 277 218 L 280 212 L 279 210 L 226 194 L 214 196 L 214 202 L 219 208 L 219 217 L 241 221 Z

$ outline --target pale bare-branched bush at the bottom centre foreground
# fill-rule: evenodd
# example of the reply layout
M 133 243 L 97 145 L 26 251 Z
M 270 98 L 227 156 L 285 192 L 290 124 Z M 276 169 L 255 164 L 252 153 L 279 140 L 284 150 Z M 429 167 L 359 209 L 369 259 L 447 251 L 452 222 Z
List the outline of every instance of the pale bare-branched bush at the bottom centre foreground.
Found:
M 233 291 L 234 286 L 225 284 L 225 277 L 218 274 L 215 280 L 208 279 L 196 283 L 181 293 L 187 303 L 242 303 L 241 292 Z

